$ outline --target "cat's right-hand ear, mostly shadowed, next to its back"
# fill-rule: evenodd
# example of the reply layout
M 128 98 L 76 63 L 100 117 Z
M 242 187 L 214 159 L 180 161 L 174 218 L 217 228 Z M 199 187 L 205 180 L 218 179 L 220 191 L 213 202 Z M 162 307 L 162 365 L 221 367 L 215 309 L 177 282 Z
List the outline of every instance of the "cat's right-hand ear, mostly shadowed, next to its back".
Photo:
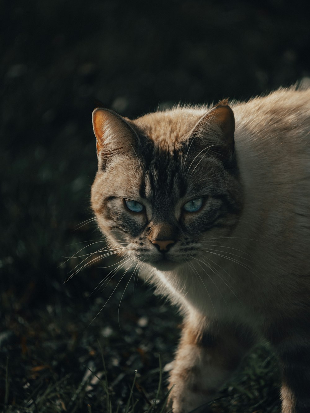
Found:
M 199 120 L 192 137 L 201 149 L 228 160 L 234 153 L 234 129 L 234 112 L 228 100 L 222 100 Z

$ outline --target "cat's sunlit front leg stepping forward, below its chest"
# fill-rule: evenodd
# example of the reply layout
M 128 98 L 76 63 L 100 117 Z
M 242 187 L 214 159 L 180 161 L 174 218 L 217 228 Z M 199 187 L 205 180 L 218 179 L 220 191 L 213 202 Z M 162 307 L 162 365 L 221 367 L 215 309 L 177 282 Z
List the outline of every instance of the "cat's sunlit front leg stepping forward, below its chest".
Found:
M 173 413 L 188 413 L 215 399 L 253 342 L 240 326 L 185 321 L 169 380 Z

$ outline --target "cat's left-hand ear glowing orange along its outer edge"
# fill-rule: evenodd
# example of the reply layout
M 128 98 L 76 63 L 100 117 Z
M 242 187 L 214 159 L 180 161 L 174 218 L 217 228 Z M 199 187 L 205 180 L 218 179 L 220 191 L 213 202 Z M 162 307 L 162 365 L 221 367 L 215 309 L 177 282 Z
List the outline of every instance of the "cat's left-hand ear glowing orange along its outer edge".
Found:
M 97 156 L 102 164 L 112 156 L 133 151 L 135 131 L 121 115 L 97 108 L 92 112 L 92 126 L 97 139 Z

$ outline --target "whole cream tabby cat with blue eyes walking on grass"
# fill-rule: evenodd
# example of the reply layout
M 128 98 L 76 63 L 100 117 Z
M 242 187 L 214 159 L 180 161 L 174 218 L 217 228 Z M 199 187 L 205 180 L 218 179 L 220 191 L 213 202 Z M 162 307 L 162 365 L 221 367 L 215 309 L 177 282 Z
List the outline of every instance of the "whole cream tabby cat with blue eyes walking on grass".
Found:
M 97 108 L 93 129 L 99 228 L 184 315 L 173 413 L 213 400 L 259 340 L 282 413 L 309 413 L 310 89 L 135 120 Z

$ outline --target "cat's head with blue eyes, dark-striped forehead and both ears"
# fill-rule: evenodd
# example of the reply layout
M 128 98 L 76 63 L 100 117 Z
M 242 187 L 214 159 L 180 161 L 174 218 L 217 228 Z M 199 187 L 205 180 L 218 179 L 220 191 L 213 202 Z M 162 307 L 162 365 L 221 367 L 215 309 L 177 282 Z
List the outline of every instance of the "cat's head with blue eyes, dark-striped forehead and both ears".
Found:
M 227 237 L 242 208 L 227 101 L 135 120 L 97 108 L 93 128 L 92 209 L 118 254 L 165 271 Z

